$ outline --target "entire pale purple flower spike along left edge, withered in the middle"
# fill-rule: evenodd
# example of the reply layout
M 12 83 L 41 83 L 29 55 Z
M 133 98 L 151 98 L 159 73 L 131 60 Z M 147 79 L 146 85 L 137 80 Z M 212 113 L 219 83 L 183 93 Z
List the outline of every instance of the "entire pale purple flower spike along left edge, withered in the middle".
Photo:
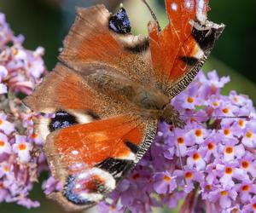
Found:
M 44 49 L 24 49 L 22 41 L 0 13 L 0 203 L 32 208 L 39 203 L 27 196 L 47 164 L 43 141 L 33 132 L 34 115 L 19 97 L 29 95 L 46 70 Z

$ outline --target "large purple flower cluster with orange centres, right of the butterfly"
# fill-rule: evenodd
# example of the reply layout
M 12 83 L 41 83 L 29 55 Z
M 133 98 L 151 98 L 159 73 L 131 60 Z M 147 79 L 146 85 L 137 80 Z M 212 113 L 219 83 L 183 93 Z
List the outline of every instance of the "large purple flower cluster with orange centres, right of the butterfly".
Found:
M 146 156 L 98 210 L 150 212 L 183 200 L 180 212 L 256 212 L 256 113 L 247 96 L 220 94 L 229 81 L 200 72 L 172 100 L 185 128 L 160 123 Z

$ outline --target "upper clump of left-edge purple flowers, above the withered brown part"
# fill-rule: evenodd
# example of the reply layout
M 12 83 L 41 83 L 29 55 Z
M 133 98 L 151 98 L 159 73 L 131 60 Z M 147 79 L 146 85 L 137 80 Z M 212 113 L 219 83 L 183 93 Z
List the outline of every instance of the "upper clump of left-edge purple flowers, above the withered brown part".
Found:
M 0 94 L 7 93 L 8 86 L 10 92 L 30 95 L 46 74 L 42 59 L 44 49 L 24 49 L 23 40 L 22 35 L 14 36 L 4 14 L 0 14 Z

